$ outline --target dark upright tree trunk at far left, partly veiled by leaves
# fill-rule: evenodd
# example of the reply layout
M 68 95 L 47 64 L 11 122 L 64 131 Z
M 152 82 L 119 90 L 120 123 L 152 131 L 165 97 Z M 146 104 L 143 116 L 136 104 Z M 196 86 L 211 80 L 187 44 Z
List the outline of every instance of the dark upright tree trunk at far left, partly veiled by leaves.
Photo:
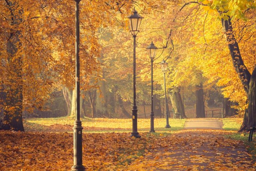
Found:
M 6 7 L 9 8 L 11 14 L 11 25 L 17 25 L 22 22 L 22 10 L 18 15 L 14 15 L 17 6 L 16 2 L 6 1 Z M 15 26 L 14 26 L 15 28 Z M 4 83 L 7 87 L 6 101 L 4 109 L 3 126 L 4 130 L 13 129 L 15 131 L 24 131 L 22 121 L 23 111 L 23 79 L 22 79 L 22 56 L 17 56 L 21 44 L 19 43 L 19 30 L 10 30 L 10 37 L 7 42 L 7 53 L 9 54 L 7 68 L 9 70 L 9 82 Z

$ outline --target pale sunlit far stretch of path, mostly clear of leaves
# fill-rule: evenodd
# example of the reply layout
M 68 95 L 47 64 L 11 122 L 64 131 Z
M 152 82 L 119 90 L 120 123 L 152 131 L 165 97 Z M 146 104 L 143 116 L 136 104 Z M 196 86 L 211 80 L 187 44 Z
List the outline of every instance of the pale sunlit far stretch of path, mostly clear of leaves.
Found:
M 184 129 L 222 129 L 222 120 L 217 118 L 187 119 Z

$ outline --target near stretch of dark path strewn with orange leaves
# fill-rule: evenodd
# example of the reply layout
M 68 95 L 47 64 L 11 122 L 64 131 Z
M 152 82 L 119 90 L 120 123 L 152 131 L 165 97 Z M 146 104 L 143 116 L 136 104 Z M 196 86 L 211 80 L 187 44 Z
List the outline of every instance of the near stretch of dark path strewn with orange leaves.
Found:
M 161 141 L 125 171 L 255 171 L 241 141 L 224 138 L 223 130 L 182 130 Z

